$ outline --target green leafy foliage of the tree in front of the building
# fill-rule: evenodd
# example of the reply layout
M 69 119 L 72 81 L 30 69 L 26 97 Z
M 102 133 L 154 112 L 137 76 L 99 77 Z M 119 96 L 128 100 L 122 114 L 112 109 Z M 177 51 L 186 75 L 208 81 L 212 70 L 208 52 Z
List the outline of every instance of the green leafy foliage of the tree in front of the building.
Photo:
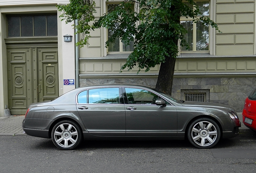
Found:
M 107 1 L 111 2 L 111 0 Z M 217 24 L 208 16 L 204 16 L 201 12 L 204 9 L 200 9 L 193 0 L 186 0 L 185 3 L 182 0 L 123 0 L 120 5 L 113 6 L 113 9 L 99 18 L 93 16 L 94 5 L 91 0 L 70 0 L 70 4 L 58 6 L 58 9 L 64 12 L 61 17 L 65 18 L 66 22 L 79 20 L 78 26 L 75 27 L 78 33 L 85 34 L 78 43 L 81 46 L 87 44 L 90 30 L 100 27 L 111 29 L 111 36 L 106 46 L 115 42 L 117 38 L 118 40 L 120 38 L 124 44 L 134 40 L 134 51 L 128 56 L 121 71 L 137 66 L 138 72 L 141 69 L 147 72 L 157 64 L 162 66 L 166 61 L 175 62 L 179 52 L 178 43 L 189 48 L 184 39 L 188 31 L 180 24 L 181 16 L 192 18 L 193 22 L 210 24 L 218 29 Z M 175 63 L 168 64 L 175 65 Z M 168 74 L 172 77 L 173 72 L 174 68 Z M 164 78 L 160 76 L 160 72 L 159 78 Z

